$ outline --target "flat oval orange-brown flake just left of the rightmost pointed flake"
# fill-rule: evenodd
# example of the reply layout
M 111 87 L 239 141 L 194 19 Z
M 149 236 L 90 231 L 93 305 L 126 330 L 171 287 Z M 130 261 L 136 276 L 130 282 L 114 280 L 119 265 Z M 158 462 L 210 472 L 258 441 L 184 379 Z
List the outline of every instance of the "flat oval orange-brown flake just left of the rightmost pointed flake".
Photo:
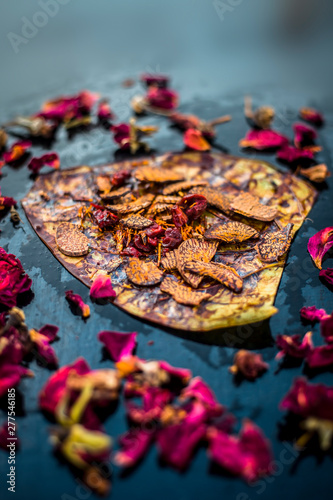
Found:
M 240 243 L 250 238 L 258 238 L 259 233 L 253 227 L 241 222 L 222 222 L 214 224 L 204 234 L 208 240 L 221 240 L 225 243 Z

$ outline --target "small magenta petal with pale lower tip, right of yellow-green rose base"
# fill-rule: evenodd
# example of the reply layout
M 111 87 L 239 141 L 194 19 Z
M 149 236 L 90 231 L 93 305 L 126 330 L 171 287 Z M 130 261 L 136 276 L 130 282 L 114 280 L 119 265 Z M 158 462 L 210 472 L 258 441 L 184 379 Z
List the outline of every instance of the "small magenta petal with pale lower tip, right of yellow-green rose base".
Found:
M 147 453 L 154 438 L 152 430 L 130 429 L 119 438 L 120 450 L 113 461 L 118 467 L 134 467 Z

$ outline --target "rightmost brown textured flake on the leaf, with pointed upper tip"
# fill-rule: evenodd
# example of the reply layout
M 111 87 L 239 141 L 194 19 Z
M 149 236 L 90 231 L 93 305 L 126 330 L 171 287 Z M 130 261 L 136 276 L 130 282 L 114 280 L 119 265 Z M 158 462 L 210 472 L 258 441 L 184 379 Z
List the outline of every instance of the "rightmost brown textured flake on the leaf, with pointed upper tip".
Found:
M 290 246 L 292 228 L 293 224 L 289 223 L 279 231 L 264 234 L 256 245 L 260 260 L 275 262 L 282 257 Z

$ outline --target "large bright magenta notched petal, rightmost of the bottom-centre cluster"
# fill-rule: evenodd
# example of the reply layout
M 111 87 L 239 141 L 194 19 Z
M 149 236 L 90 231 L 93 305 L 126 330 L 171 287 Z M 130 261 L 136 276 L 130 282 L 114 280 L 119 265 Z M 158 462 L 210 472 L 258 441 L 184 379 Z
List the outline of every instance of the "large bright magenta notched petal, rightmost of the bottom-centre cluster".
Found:
M 208 429 L 209 456 L 224 469 L 253 482 L 271 472 L 273 462 L 269 441 L 250 420 L 245 420 L 239 436 Z

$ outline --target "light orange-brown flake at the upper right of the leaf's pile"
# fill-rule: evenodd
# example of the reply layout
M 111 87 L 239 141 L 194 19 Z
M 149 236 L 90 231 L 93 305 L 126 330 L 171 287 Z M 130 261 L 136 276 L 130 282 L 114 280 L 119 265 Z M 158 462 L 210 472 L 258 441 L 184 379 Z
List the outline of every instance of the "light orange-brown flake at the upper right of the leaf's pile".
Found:
M 231 210 L 250 219 L 269 222 L 277 216 L 277 209 L 260 203 L 260 199 L 250 193 L 241 193 L 230 204 Z

